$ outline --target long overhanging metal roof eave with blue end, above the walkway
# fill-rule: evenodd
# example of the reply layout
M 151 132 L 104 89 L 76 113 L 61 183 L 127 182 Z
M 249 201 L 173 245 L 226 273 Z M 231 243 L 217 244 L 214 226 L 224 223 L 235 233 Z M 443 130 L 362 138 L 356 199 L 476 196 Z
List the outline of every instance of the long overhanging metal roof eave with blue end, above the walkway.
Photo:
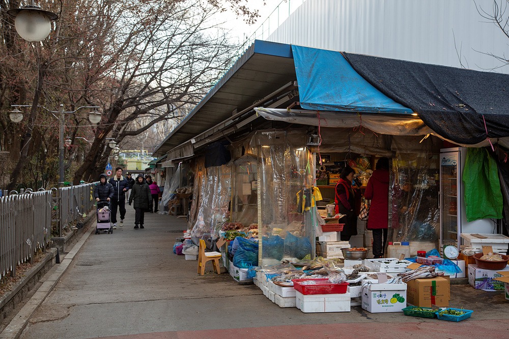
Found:
M 153 154 L 166 153 L 293 80 L 291 46 L 255 41 Z

